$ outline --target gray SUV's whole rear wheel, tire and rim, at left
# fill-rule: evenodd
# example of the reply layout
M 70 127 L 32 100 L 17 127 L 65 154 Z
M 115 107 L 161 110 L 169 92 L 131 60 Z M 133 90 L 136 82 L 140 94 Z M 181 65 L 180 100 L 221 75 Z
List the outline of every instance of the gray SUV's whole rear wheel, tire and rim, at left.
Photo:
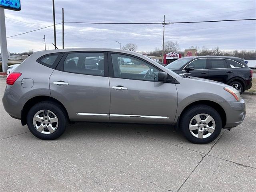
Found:
M 43 140 L 60 137 L 66 128 L 66 116 L 58 104 L 40 102 L 28 112 L 28 128 L 30 132 Z

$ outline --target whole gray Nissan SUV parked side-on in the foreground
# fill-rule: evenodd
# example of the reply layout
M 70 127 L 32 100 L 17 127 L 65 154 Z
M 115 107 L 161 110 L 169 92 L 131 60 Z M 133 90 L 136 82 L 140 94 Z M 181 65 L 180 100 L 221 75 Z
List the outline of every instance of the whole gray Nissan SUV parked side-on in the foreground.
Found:
M 236 89 L 180 76 L 124 50 L 34 52 L 6 83 L 6 112 L 44 140 L 60 137 L 69 122 L 90 121 L 169 124 L 205 144 L 241 124 L 246 113 Z

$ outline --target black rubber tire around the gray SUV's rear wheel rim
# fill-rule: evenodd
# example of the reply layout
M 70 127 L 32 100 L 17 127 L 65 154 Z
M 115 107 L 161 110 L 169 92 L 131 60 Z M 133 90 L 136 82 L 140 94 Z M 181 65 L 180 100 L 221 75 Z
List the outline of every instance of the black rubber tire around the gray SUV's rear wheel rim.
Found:
M 58 118 L 58 126 L 53 133 L 44 134 L 36 130 L 36 128 L 34 127 L 34 124 L 33 124 L 34 115 L 40 110 L 50 110 Z M 61 106 L 59 106 L 55 102 L 45 101 L 32 106 L 32 108 L 28 111 L 27 123 L 28 123 L 28 128 L 30 132 L 37 138 L 40 138 L 42 140 L 54 140 L 60 137 L 64 133 L 66 129 L 67 118 Z

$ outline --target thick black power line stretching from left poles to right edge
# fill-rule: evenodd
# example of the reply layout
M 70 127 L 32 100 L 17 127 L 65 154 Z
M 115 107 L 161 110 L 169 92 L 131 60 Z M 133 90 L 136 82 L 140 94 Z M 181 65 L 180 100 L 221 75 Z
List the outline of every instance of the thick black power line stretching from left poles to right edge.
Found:
M 165 24 L 209 23 L 209 22 L 247 21 L 247 20 L 256 20 L 256 18 L 255 19 L 212 20 L 212 21 L 165 22 Z M 162 22 L 150 22 L 150 23 L 65 22 L 65 23 L 78 23 L 78 24 L 164 24 Z

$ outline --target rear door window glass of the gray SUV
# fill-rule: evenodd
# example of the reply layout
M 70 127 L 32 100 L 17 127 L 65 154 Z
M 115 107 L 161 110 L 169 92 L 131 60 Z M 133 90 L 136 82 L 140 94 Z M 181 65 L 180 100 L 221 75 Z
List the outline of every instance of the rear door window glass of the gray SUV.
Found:
M 104 53 L 69 53 L 64 71 L 104 76 Z

